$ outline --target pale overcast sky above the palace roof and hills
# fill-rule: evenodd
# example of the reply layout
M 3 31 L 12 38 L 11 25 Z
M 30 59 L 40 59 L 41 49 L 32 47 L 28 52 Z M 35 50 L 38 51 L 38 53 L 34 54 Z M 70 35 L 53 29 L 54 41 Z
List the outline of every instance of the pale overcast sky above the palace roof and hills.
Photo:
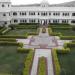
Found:
M 42 0 L 11 0 L 12 4 L 34 4 L 34 3 L 40 3 Z M 46 0 L 49 2 L 49 4 L 58 4 L 63 2 L 69 2 L 74 0 Z

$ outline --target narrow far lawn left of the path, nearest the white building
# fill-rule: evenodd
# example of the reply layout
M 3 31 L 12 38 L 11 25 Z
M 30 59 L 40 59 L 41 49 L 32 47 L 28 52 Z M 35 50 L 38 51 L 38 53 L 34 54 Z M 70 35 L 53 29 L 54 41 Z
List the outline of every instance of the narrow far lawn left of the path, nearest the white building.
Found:
M 36 32 L 36 29 L 15 29 L 8 32 L 6 35 L 25 35 L 27 32 Z

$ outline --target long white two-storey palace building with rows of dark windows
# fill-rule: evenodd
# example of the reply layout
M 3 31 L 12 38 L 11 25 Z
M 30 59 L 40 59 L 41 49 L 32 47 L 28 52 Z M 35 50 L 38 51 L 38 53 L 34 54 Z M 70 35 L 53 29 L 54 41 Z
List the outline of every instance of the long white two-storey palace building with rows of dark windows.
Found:
M 75 24 L 75 1 L 50 5 L 12 5 L 10 0 L 0 0 L 0 25 L 18 23 L 68 23 Z

